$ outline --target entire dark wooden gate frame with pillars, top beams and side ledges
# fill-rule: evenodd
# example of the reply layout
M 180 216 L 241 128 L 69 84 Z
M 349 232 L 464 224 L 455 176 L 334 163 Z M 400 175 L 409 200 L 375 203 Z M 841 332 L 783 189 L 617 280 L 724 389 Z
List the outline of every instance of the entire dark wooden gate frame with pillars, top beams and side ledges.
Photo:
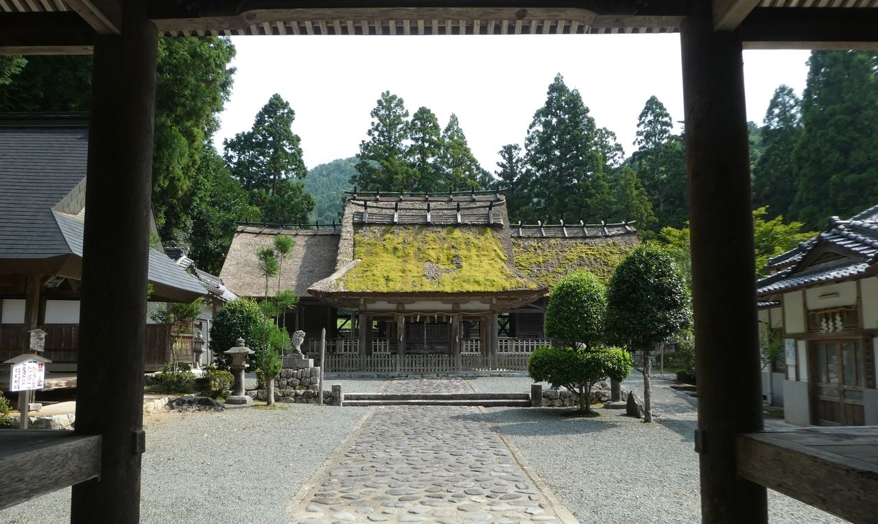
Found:
M 744 47 L 878 47 L 873 0 L 0 0 L 0 53 L 94 54 L 81 318 L 89 349 L 79 360 L 76 433 L 16 434 L 0 442 L 0 507 L 74 485 L 71 521 L 139 520 L 158 35 L 615 32 L 680 32 L 702 520 L 766 522 L 769 485 L 848 519 L 874 522 L 874 429 L 836 439 L 837 453 L 760 433 L 742 70 Z M 114 394 L 110 405 L 106 391 Z M 845 442 L 865 449 L 872 462 L 844 453 Z M 778 456 L 783 460 L 767 459 Z M 25 467 L 32 464 L 39 467 Z M 820 485 L 847 496 L 816 496 Z

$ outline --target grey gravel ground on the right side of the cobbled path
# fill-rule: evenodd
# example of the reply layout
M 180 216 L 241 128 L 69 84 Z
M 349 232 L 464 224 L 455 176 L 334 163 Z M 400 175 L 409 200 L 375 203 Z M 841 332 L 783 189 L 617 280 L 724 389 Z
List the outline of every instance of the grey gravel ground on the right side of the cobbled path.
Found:
M 526 377 L 471 384 L 485 392 L 529 388 Z M 643 377 L 624 381 L 628 390 L 643 391 Z M 569 408 L 486 408 L 486 416 L 580 522 L 701 522 L 695 400 L 659 381 L 652 398 L 656 424 L 604 409 L 593 419 L 559 416 Z M 768 506 L 772 523 L 845 522 L 770 490 Z

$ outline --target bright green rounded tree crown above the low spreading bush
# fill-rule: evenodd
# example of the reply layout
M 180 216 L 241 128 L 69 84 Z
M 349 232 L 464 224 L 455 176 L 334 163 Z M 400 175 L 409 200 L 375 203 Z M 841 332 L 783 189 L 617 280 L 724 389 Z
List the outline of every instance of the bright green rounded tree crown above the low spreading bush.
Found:
M 565 276 L 546 307 L 545 333 L 571 348 L 594 348 L 603 339 L 606 295 L 598 277 L 587 271 Z

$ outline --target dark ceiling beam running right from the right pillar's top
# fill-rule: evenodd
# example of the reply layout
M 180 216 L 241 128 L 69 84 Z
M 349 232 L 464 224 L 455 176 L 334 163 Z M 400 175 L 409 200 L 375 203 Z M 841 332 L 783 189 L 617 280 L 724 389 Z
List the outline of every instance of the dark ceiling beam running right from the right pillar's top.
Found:
M 740 31 L 745 49 L 878 49 L 878 9 L 757 8 Z

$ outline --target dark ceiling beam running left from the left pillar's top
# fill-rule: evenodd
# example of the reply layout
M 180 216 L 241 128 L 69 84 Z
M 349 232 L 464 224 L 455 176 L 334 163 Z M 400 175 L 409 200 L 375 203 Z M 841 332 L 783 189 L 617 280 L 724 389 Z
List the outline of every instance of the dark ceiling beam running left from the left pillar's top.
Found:
M 0 16 L 0 54 L 90 54 L 95 36 L 72 11 Z

